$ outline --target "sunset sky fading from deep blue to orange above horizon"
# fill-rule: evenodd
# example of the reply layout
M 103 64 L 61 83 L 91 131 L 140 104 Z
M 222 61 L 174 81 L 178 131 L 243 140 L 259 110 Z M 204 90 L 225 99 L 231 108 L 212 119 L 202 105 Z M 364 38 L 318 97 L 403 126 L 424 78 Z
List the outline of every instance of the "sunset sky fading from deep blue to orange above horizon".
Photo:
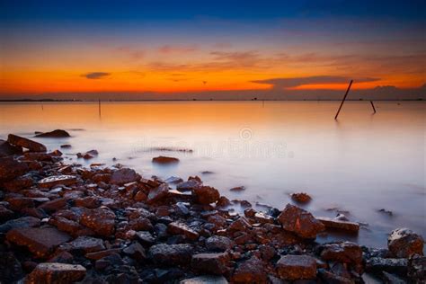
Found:
M 0 2 L 0 99 L 424 98 L 426 1 Z

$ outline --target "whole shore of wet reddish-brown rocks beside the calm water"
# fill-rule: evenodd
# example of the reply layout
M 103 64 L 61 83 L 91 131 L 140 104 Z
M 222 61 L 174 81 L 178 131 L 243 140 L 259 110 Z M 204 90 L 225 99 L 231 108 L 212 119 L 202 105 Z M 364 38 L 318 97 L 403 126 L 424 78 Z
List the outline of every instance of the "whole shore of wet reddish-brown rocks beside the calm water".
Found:
M 61 155 L 28 138 L 0 140 L 1 283 L 424 283 L 423 239 L 409 229 L 390 232 L 386 249 L 318 244 L 321 232 L 359 225 L 292 204 L 259 212 L 198 176 L 163 181 Z M 178 162 L 153 160 L 164 161 Z

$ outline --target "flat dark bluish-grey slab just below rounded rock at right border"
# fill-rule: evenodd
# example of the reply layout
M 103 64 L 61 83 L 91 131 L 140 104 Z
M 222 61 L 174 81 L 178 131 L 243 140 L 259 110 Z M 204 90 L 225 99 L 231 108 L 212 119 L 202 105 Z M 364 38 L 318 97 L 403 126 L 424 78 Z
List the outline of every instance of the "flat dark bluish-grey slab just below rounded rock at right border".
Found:
M 367 272 L 380 273 L 386 271 L 390 273 L 397 273 L 405 275 L 407 272 L 408 260 L 403 258 L 381 258 L 372 257 L 366 262 Z

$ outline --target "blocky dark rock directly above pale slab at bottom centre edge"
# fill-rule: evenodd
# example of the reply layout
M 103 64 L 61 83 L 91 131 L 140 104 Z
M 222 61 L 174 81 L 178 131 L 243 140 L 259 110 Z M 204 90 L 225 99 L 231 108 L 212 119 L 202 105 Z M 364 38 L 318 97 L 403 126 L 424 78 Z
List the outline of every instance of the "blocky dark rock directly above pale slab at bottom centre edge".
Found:
M 222 275 L 228 271 L 226 253 L 198 253 L 192 255 L 191 268 L 198 273 Z

